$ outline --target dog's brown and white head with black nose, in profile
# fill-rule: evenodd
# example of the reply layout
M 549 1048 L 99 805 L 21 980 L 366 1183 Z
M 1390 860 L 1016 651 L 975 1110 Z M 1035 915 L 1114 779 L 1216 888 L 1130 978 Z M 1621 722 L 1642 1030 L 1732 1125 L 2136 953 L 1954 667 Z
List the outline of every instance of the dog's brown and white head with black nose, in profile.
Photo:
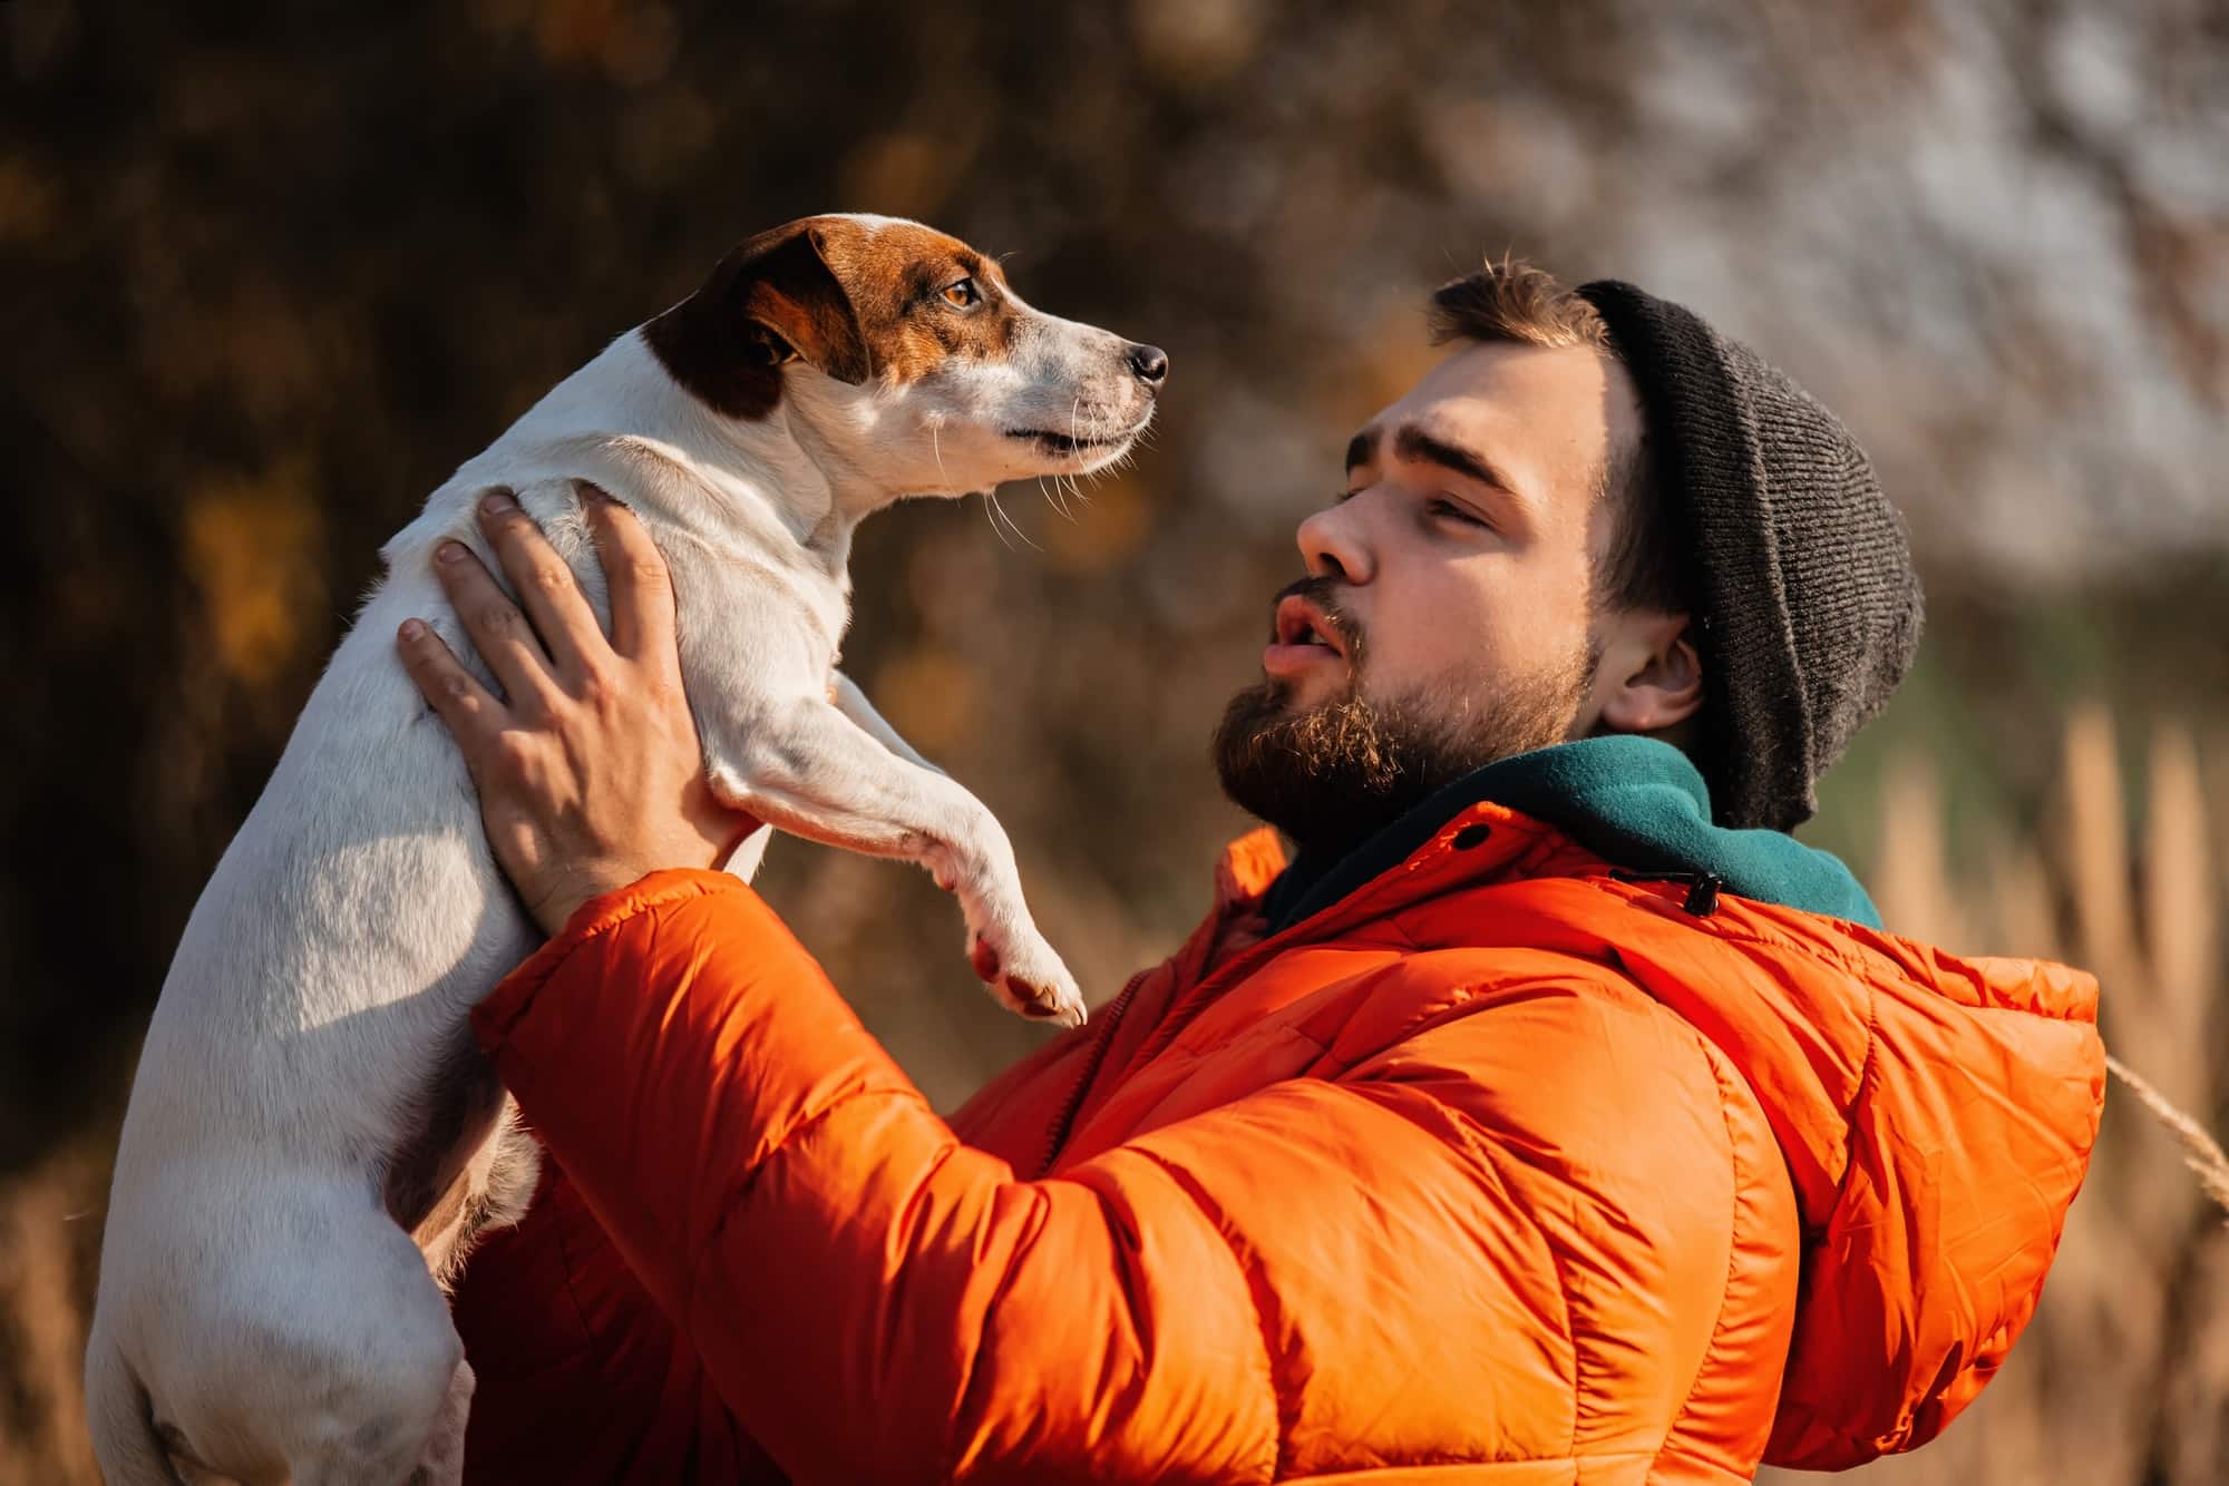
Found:
M 711 410 L 811 437 L 898 495 L 1097 470 L 1152 419 L 1168 356 L 1054 319 L 921 223 L 807 216 L 736 247 L 644 327 Z

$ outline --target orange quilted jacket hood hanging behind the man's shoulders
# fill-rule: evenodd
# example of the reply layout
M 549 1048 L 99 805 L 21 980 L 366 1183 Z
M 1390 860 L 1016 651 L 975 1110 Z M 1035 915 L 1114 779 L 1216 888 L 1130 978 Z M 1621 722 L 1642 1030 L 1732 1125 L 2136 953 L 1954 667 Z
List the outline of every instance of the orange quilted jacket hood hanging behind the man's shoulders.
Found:
M 1765 1461 L 1832 1470 L 1933 1439 L 2042 1299 L 2104 1107 L 2091 976 L 1636 887 L 1616 956 L 1765 1107 L 1803 1223 Z

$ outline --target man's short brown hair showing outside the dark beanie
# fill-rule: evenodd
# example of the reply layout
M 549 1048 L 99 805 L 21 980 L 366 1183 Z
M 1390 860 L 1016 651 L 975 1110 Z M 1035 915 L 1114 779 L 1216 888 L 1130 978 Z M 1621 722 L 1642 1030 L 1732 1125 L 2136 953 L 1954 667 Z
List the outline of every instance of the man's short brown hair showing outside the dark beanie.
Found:
M 1431 296 L 1429 325 L 1433 345 L 1502 341 L 1618 354 L 1600 312 L 1522 258 L 1487 258 L 1476 274 L 1442 283 Z M 1594 568 L 1594 602 L 1692 615 L 1681 535 L 1649 466 L 1647 441 L 1643 426 L 1638 448 L 1612 448 L 1596 477 L 1596 499 L 1612 504 L 1612 524 L 1609 548 Z

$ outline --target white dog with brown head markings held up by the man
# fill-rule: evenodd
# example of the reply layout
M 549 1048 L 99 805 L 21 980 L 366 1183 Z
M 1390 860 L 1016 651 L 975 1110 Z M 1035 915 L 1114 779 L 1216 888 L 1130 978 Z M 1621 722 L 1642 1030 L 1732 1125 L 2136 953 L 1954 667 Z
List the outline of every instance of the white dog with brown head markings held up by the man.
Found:
M 713 791 L 811 840 L 909 858 L 958 896 L 1008 1007 L 1081 1023 L 990 811 L 838 666 L 860 519 L 907 495 L 1099 470 L 1168 356 L 1025 305 L 909 221 L 749 238 L 428 497 L 185 927 L 109 1190 L 87 1412 L 111 1486 L 439 1486 L 473 1372 L 446 1285 L 517 1221 L 535 1147 L 473 1045 L 473 1003 L 539 931 L 392 635 L 428 617 L 493 684 L 432 577 L 510 490 L 609 626 L 582 490 L 666 557 Z M 490 570 L 497 564 L 488 561 Z M 729 871 L 758 867 L 767 831 Z

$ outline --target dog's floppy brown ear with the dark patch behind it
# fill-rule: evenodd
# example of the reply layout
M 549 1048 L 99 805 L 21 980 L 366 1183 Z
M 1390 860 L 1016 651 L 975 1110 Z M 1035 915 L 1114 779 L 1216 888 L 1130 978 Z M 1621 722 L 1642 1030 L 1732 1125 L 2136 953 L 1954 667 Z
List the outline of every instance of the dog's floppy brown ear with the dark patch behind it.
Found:
M 789 223 L 742 243 L 704 287 L 642 334 L 673 381 L 731 419 L 756 421 L 773 412 L 789 361 L 807 361 L 845 383 L 874 372 L 858 312 L 811 223 Z

